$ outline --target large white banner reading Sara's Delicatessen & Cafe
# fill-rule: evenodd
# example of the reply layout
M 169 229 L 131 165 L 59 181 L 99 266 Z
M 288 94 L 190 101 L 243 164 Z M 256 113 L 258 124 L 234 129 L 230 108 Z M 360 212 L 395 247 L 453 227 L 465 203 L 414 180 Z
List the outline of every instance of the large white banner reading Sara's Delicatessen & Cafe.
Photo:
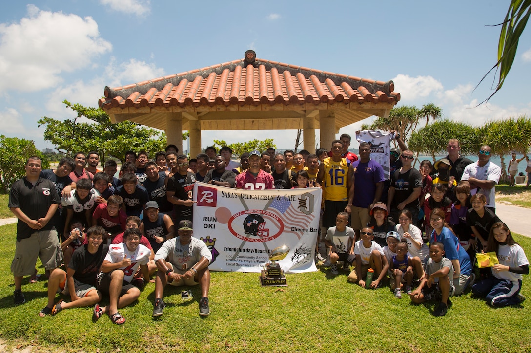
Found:
M 277 246 L 286 273 L 316 271 L 321 189 L 239 190 L 196 182 L 194 236 L 212 251 L 211 270 L 260 272 Z

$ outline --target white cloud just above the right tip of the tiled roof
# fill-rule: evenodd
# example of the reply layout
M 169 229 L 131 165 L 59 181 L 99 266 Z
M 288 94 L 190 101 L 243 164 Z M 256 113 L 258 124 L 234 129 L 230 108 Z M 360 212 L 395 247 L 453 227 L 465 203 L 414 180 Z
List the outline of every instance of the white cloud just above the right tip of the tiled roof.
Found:
M 399 74 L 393 78 L 393 82 L 396 90 L 400 92 L 401 101 L 414 101 L 443 90 L 442 83 L 432 76 L 410 77 Z

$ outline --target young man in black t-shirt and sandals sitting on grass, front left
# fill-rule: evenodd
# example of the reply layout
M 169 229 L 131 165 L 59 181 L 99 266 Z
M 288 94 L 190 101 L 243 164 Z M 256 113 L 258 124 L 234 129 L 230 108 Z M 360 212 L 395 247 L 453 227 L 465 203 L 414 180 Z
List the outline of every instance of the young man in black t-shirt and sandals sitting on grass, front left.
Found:
M 88 306 L 101 300 L 96 289 L 96 275 L 107 255 L 108 245 L 102 244 L 107 232 L 94 226 L 87 232 L 88 243 L 80 246 L 72 254 L 66 272 L 60 268 L 52 271 L 48 280 L 48 304 L 39 313 L 40 317 L 55 315 L 71 307 Z M 71 302 L 62 300 L 54 305 L 55 294 L 70 294 Z

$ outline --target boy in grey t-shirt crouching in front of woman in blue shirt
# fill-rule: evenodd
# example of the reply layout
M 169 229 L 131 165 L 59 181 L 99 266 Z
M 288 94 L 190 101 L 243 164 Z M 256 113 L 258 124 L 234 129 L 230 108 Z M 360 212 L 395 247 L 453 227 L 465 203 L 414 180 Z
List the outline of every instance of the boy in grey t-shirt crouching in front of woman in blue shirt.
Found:
M 441 242 L 430 244 L 430 258 L 426 263 L 426 275 L 418 288 L 410 294 L 411 301 L 421 304 L 433 299 L 441 302 L 433 311 L 433 316 L 444 316 L 448 307 L 452 305 L 450 296 L 453 294 L 453 265 L 450 259 L 444 257 L 444 245 Z

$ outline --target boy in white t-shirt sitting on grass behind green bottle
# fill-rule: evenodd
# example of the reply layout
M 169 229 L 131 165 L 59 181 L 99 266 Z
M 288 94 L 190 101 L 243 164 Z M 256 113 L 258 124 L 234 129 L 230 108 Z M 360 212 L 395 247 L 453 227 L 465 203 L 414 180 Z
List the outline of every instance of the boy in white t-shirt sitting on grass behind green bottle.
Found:
M 386 277 L 389 262 L 383 254 L 382 247 L 373 241 L 374 234 L 371 227 L 363 227 L 359 234 L 360 240 L 354 246 L 356 255 L 356 268 L 348 275 L 348 281 L 358 283 L 365 287 L 367 270 L 374 270 L 375 279 L 372 280 L 371 288 L 380 288 L 382 279 Z

